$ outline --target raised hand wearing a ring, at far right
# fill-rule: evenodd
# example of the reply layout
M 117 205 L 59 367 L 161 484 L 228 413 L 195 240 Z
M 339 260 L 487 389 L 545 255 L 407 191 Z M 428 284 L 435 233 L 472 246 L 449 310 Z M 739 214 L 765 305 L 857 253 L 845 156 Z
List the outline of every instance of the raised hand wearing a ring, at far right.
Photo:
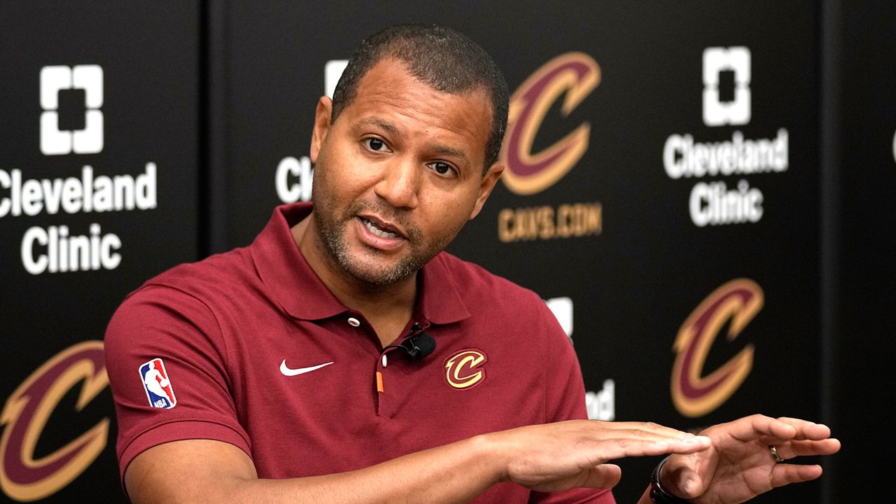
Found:
M 831 455 L 840 441 L 811 421 L 752 415 L 701 432 L 709 449 L 670 456 L 659 474 L 664 489 L 696 504 L 737 504 L 773 488 L 822 475 L 820 465 L 795 465 L 797 456 Z M 769 447 L 786 462 L 777 463 Z

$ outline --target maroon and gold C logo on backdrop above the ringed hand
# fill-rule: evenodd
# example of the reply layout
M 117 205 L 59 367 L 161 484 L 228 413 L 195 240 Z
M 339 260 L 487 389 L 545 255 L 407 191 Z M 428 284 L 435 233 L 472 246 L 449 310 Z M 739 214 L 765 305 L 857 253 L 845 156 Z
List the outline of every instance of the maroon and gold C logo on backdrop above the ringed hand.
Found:
M 704 374 L 712 342 L 728 326 L 728 341 L 737 338 L 762 309 L 764 295 L 756 282 L 738 278 L 713 291 L 678 330 L 672 368 L 672 402 L 679 413 L 698 417 L 719 407 L 740 387 L 753 368 L 754 347 L 747 344 L 719 369 Z

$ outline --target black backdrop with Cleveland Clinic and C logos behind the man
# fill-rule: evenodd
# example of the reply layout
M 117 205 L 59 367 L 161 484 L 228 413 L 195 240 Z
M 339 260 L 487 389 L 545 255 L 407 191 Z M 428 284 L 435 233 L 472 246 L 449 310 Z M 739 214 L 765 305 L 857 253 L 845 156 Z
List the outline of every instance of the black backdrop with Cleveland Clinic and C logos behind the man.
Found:
M 533 140 L 508 140 L 511 180 L 450 250 L 552 300 L 590 413 L 822 419 L 845 443 L 824 481 L 756 501 L 862 501 L 885 476 L 867 461 L 892 399 L 894 18 L 808 1 L 0 5 L 4 496 L 125 501 L 105 373 L 83 366 L 112 310 L 307 197 L 325 65 L 412 21 L 468 33 L 519 91 L 511 130 Z M 73 77 L 97 66 L 99 81 Z M 54 139 L 62 153 L 44 153 Z M 538 165 L 554 148 L 567 161 Z M 75 242 L 97 259 L 50 266 Z M 688 356 L 702 365 L 676 367 Z M 77 363 L 90 372 L 65 374 Z M 85 432 L 88 448 L 69 444 Z M 621 461 L 617 500 L 655 464 Z

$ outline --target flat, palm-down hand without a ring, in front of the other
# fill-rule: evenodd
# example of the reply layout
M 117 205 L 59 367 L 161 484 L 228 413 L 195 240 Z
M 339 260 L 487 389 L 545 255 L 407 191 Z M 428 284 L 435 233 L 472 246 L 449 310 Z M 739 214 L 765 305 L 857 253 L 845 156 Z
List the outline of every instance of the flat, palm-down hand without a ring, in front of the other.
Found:
M 611 488 L 622 475 L 608 461 L 626 456 L 690 454 L 710 439 L 656 423 L 577 420 L 487 434 L 504 456 L 502 481 L 534 491 Z

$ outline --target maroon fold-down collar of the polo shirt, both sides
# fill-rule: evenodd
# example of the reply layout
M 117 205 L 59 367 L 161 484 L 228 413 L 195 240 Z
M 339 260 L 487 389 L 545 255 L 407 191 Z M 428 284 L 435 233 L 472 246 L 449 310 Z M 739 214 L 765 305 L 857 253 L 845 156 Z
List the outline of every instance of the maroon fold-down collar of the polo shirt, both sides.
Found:
M 310 203 L 283 204 L 249 247 L 255 270 L 290 316 L 304 320 L 334 317 L 346 311 L 299 252 L 290 229 L 311 213 Z M 423 266 L 415 316 L 433 324 L 470 317 L 442 252 Z

